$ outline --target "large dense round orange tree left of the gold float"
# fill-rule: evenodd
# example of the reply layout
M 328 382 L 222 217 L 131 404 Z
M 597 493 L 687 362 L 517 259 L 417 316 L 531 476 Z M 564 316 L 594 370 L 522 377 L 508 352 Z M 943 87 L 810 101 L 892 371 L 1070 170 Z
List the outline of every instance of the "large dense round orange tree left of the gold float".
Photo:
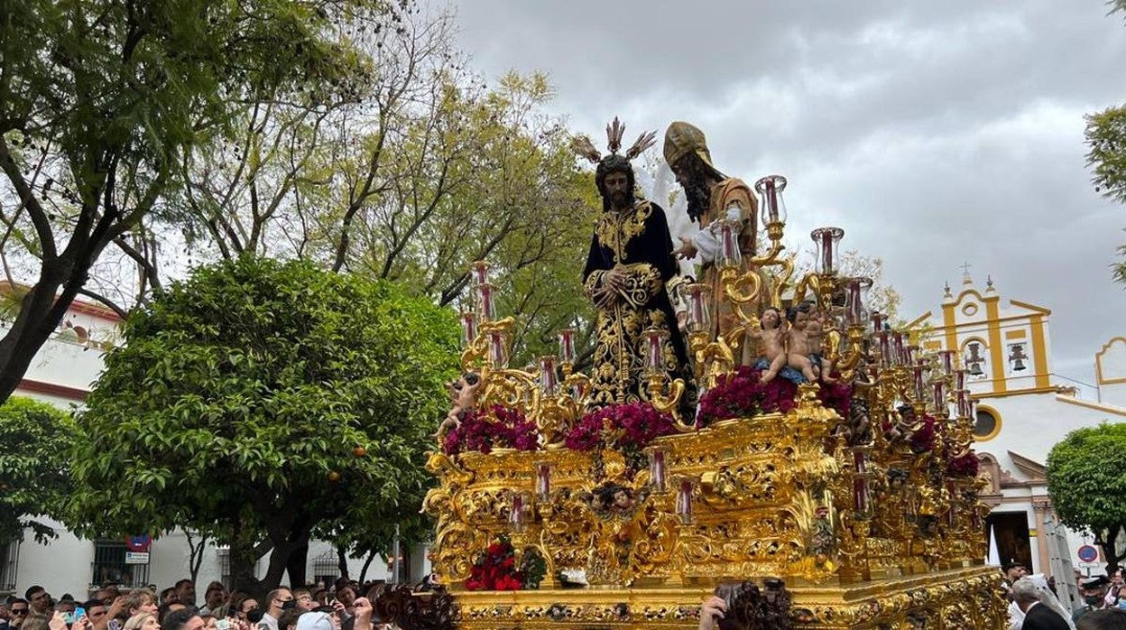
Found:
M 449 310 L 390 282 L 242 257 L 158 293 L 125 334 L 78 418 L 73 527 L 190 527 L 230 543 L 238 586 L 261 592 L 286 569 L 303 583 L 324 524 L 418 512 L 456 370 Z

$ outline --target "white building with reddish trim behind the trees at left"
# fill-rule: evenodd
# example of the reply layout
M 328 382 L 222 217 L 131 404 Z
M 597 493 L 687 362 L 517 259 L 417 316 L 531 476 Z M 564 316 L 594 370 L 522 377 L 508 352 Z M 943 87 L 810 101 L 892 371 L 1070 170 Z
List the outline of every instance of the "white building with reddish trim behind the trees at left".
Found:
M 0 293 L 10 294 L 7 283 L 0 283 Z M 102 369 L 102 356 L 107 348 L 120 343 L 120 318 L 104 307 L 75 300 L 63 318 L 57 332 L 35 356 L 16 396 L 44 400 L 63 409 L 81 407 L 91 384 Z M 0 321 L 0 336 L 8 330 L 8 323 Z M 70 593 L 78 600 L 96 589 L 101 583 L 114 579 L 125 586 L 157 585 L 172 586 L 177 580 L 189 577 L 190 558 L 188 536 L 176 531 L 151 542 L 148 551 L 131 551 L 125 540 L 82 540 L 56 527 L 59 538 L 48 544 L 35 542 L 30 532 L 21 543 L 0 544 L 0 594 L 18 593 L 32 585 L 44 586 L 53 596 Z M 142 532 L 138 532 L 138 534 Z M 197 541 L 198 542 L 198 541 Z M 133 545 L 140 550 L 142 547 Z M 411 576 L 421 576 L 429 570 L 423 566 L 425 553 L 413 553 L 414 565 Z M 258 562 L 259 575 L 265 573 L 267 561 Z M 349 559 L 349 576 L 358 578 L 363 559 Z M 226 549 L 207 545 L 203 550 L 203 561 L 196 579 L 197 600 L 212 580 L 230 585 L 230 562 Z M 310 544 L 306 577 L 336 579 L 337 553 L 322 541 Z M 386 562 L 377 558 L 367 570 L 368 579 L 387 579 Z M 287 578 L 283 579 L 283 584 Z M 197 603 L 203 603 L 197 601 Z

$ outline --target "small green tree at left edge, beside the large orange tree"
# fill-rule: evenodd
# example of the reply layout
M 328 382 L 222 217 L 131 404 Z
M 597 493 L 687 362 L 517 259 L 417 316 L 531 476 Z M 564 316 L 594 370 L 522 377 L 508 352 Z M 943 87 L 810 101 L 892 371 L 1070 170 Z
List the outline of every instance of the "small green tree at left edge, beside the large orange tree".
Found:
M 54 530 L 34 516 L 57 518 L 71 493 L 65 453 L 73 424 L 65 411 L 30 398 L 0 406 L 0 542 L 30 527 L 45 542 Z

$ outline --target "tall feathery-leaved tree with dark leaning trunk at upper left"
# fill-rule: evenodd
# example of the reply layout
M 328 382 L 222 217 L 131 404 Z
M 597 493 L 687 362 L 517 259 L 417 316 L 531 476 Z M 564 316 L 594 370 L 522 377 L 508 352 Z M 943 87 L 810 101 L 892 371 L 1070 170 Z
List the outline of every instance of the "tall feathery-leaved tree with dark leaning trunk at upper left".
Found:
M 177 166 L 232 112 L 349 94 L 367 72 L 337 43 L 396 2 L 14 0 L 0 6 L 0 260 L 34 278 L 0 339 L 0 401 L 113 243 L 140 258 Z

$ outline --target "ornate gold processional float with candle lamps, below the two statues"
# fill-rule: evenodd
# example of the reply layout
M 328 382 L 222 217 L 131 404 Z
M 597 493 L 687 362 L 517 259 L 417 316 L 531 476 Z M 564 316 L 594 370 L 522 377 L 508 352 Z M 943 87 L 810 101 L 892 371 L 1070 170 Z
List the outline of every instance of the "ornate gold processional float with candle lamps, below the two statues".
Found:
M 1000 574 L 983 564 L 965 371 L 868 312 L 872 281 L 838 273 L 841 229 L 813 231 L 816 269 L 792 279 L 783 188 L 756 184 L 768 252 L 741 259 L 724 224 L 722 295 L 685 287 L 706 391 L 696 418 L 659 367 L 658 330 L 643 405 L 587 409 L 573 330 L 537 369 L 509 367 L 513 318 L 497 317 L 489 266 L 473 266 L 464 375 L 427 464 L 446 591 L 412 604 L 414 627 L 696 628 L 724 585 L 733 628 L 1006 628 Z M 802 302 L 839 382 L 763 384 L 736 365 L 761 330 L 749 311 Z M 711 332 L 716 304 L 740 326 Z

